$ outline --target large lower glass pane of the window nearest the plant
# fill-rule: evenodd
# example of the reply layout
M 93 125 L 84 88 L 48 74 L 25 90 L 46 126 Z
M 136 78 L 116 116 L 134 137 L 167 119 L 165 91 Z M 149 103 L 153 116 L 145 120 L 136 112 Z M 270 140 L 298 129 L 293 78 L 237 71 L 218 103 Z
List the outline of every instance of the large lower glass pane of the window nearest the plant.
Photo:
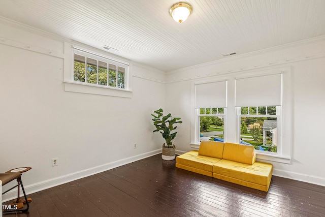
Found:
M 223 117 L 200 116 L 200 141 L 223 141 Z

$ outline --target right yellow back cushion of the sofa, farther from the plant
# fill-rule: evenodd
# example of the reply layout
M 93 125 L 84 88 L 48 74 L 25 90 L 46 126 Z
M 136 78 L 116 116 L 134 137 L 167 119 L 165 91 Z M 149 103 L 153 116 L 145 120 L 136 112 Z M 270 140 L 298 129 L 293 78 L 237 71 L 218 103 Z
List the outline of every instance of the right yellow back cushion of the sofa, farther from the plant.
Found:
M 256 161 L 255 148 L 252 145 L 224 143 L 222 159 L 252 165 Z

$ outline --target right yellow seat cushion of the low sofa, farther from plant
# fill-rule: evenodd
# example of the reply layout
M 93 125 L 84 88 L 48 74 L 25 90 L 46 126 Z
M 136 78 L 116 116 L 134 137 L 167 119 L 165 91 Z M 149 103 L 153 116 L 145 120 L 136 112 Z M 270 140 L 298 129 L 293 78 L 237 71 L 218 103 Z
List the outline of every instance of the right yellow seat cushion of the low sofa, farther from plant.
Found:
M 270 185 L 272 171 L 273 165 L 263 162 L 249 165 L 222 159 L 213 166 L 213 173 L 264 186 Z

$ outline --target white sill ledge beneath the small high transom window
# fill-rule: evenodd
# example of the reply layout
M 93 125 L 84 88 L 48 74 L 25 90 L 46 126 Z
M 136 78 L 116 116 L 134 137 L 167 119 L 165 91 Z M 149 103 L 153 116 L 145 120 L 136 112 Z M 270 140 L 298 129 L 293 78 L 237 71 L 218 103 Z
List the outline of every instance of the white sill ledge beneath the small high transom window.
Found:
M 132 98 L 132 91 L 126 89 L 111 88 L 93 84 L 64 81 L 64 91 L 81 92 L 83 94 L 95 94 L 113 97 Z

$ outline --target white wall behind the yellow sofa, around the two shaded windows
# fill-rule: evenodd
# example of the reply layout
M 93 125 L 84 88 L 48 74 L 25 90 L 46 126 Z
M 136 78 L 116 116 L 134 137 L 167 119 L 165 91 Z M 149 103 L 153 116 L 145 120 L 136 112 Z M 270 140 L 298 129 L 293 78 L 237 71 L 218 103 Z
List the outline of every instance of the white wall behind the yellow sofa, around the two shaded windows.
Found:
M 325 39 L 318 38 L 286 47 L 268 49 L 255 54 L 241 55 L 227 60 L 193 66 L 169 72 L 166 85 L 166 108 L 183 118 L 179 128 L 177 144 L 179 153 L 192 150 L 191 117 L 193 109 L 192 86 L 202 79 L 223 79 L 229 75 L 243 74 L 252 70 L 275 68 L 291 69 L 291 161 L 274 165 L 274 175 L 325 185 L 323 158 L 323 125 L 325 116 Z M 229 82 L 232 85 L 232 80 Z M 228 96 L 233 97 L 228 92 Z M 230 111 L 234 114 L 233 111 Z M 228 112 L 228 113 L 230 113 Z M 234 115 L 232 115 L 234 116 Z M 228 141 L 234 141 L 236 121 L 231 117 L 227 122 Z M 284 132 L 286 133 L 286 132 Z M 290 144 L 283 144 L 290 145 Z M 289 153 L 290 154 L 290 153 Z

